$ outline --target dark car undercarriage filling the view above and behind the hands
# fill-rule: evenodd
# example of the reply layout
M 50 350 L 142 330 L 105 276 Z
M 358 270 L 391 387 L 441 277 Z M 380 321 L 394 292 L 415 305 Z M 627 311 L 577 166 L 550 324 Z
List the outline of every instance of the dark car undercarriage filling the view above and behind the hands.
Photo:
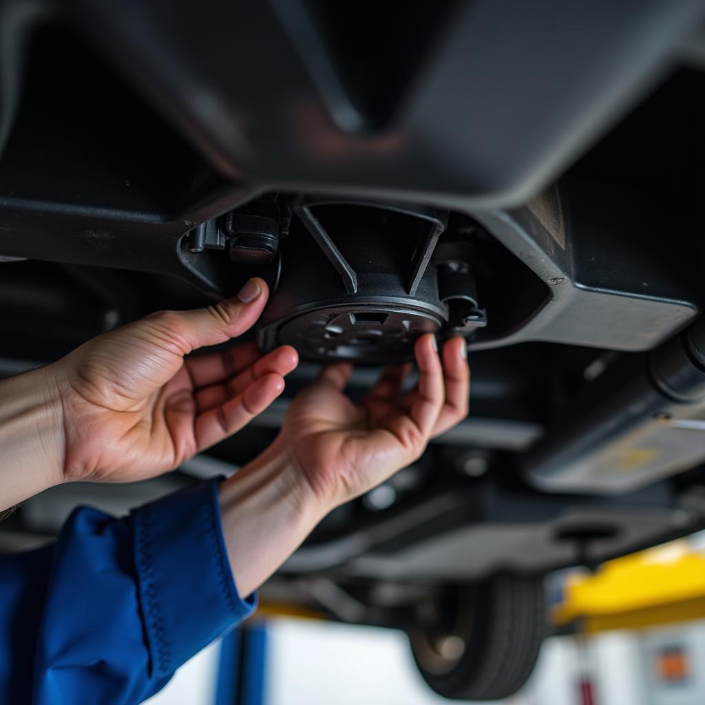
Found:
M 469 417 L 326 517 L 262 599 L 407 630 L 448 697 L 513 692 L 543 622 L 496 644 L 515 670 L 459 676 L 489 649 L 482 606 L 540 614 L 548 572 L 705 526 L 704 19 L 692 0 L 1 2 L 0 372 L 254 275 L 272 296 L 252 336 L 302 362 L 237 436 L 144 484 L 37 496 L 0 544 L 235 472 L 321 363 L 355 363 L 361 396 L 420 334 L 461 335 Z M 455 653 L 466 607 L 483 640 Z

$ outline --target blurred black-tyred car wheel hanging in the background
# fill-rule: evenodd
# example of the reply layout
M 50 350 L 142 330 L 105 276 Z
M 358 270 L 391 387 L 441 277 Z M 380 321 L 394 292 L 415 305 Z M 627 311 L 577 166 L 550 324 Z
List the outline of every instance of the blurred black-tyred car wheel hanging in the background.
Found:
M 409 633 L 416 665 L 439 695 L 494 700 L 531 675 L 546 633 L 541 577 L 498 575 L 450 590 L 443 617 Z

